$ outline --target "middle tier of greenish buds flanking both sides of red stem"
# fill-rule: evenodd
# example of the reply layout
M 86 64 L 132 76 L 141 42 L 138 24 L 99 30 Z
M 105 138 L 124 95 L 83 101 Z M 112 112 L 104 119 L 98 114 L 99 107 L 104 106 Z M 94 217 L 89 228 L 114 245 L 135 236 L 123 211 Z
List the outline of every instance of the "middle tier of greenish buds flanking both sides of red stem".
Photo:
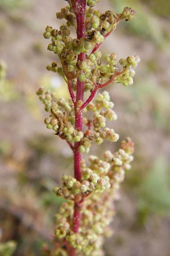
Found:
M 113 129 L 105 127 L 107 119 L 109 121 L 117 119 L 116 113 L 112 110 L 114 104 L 110 101 L 107 91 L 97 94 L 96 100 L 91 101 L 84 109 L 84 114 L 89 111 L 94 113 L 92 118 L 87 118 L 84 115 L 83 123 L 87 127 L 86 133 L 74 128 L 73 102 L 66 101 L 63 98 L 57 99 L 55 93 L 45 91 L 42 87 L 39 88 L 37 94 L 45 105 L 46 112 L 50 113 L 49 117 L 44 120 L 46 127 L 53 129 L 57 135 L 69 143 L 80 142 L 79 151 L 81 153 L 88 153 L 92 142 L 101 144 L 105 139 L 111 142 L 118 140 L 119 135 Z

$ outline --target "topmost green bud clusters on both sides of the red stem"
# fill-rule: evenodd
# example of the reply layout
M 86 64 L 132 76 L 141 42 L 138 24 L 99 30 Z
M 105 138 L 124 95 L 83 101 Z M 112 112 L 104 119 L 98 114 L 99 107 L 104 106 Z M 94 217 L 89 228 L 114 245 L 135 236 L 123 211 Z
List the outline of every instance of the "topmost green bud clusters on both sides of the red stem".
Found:
M 95 1 L 88 2 L 91 5 Z M 114 83 L 133 84 L 132 77 L 135 74 L 133 67 L 135 67 L 135 63 L 139 62 L 139 56 L 129 56 L 128 61 L 120 59 L 119 62 L 123 65 L 123 70 L 120 71 L 117 68 L 116 53 L 106 55 L 104 57 L 105 64 L 102 64 L 103 57 L 97 49 L 104 39 L 116 29 L 120 20 L 129 20 L 134 17 L 135 11 L 128 7 L 125 7 L 121 14 L 114 14 L 113 11 L 106 11 L 102 14 L 89 7 L 86 11 L 86 36 L 78 40 L 70 36 L 69 26 L 75 26 L 75 15 L 71 13 L 70 6 L 66 6 L 57 13 L 57 18 L 65 18 L 67 24 L 62 25 L 60 30 L 47 26 L 44 32 L 44 37 L 52 40 L 48 45 L 49 51 L 53 51 L 59 57 L 61 65 L 54 61 L 46 68 L 49 71 L 57 72 L 66 81 L 79 79 L 85 82 L 85 90 L 94 89 L 94 85 L 103 87 L 111 79 L 114 80 Z M 91 51 L 92 48 L 95 48 L 95 51 Z M 78 60 L 78 55 L 81 52 L 86 53 L 86 58 L 82 61 Z M 73 81 L 73 84 L 73 89 L 76 90 L 76 81 Z

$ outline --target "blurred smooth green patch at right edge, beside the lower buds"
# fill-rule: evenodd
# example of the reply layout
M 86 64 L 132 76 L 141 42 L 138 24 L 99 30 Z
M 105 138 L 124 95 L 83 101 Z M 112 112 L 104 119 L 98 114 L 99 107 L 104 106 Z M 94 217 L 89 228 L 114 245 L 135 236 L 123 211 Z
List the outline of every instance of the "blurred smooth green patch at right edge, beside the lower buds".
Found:
M 164 158 L 156 159 L 154 166 L 139 186 L 139 211 L 170 216 L 170 175 Z M 159 192 L 158 192 L 159 190 Z

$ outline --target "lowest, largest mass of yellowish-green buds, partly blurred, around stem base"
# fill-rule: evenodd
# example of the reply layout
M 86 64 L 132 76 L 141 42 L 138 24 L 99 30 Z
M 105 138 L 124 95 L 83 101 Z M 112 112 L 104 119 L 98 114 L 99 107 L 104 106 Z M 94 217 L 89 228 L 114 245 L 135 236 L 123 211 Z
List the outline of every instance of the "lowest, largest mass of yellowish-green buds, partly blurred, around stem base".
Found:
M 122 141 L 121 148 L 116 154 L 106 151 L 104 160 L 90 156 L 88 166 L 83 160 L 82 183 L 73 177 L 63 176 L 63 187 L 55 188 L 54 192 L 58 196 L 69 196 L 69 199 L 75 197 L 75 200 L 83 201 L 81 229 L 77 234 L 71 231 L 73 201 L 67 201 L 56 214 L 56 237 L 68 241 L 84 255 L 102 255 L 103 236 L 112 234 L 108 228 L 115 214 L 112 201 L 124 180 L 125 170 L 131 167 L 133 151 L 134 143 L 128 138 Z

